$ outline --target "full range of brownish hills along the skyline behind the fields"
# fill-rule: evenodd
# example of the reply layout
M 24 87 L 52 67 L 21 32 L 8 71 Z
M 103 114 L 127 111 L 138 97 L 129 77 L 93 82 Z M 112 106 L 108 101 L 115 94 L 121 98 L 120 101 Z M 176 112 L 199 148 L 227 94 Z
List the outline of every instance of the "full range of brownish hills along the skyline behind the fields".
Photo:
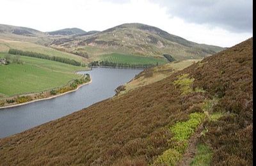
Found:
M 106 59 L 103 56 L 109 54 L 153 57 L 160 61 L 166 61 L 163 54 L 176 60 L 200 59 L 223 50 L 221 47 L 188 41 L 145 24 L 122 24 L 105 31 L 87 33 L 78 28 L 44 33 L 26 27 L 0 25 L 0 37 L 76 54 L 86 57 L 84 61 L 88 62 L 102 61 Z

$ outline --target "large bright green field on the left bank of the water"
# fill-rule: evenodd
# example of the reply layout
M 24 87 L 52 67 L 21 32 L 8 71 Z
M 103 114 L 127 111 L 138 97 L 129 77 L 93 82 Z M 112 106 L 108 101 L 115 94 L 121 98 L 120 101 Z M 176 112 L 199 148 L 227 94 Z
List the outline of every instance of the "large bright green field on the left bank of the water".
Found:
M 5 53 L 0 53 L 3 57 Z M 75 74 L 82 67 L 58 63 L 34 57 L 22 57 L 23 64 L 11 63 L 0 66 L 0 95 L 2 97 L 15 94 L 45 91 L 60 87 L 80 75 Z

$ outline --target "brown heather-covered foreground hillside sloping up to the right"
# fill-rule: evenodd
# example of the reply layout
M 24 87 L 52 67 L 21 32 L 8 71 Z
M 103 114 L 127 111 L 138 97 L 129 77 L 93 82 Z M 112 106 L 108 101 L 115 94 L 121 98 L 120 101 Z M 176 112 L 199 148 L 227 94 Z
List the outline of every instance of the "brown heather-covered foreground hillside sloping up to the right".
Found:
M 0 139 L 1 165 L 252 165 L 252 43 Z

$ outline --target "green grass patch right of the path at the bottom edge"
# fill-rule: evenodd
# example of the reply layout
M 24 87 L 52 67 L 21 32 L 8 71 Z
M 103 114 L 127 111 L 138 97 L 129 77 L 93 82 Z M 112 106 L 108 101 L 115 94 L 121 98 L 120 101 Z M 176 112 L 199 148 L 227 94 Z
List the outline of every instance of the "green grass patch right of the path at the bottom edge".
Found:
M 190 165 L 193 166 L 207 166 L 211 164 L 212 149 L 206 144 L 198 144 L 196 148 L 196 155 Z

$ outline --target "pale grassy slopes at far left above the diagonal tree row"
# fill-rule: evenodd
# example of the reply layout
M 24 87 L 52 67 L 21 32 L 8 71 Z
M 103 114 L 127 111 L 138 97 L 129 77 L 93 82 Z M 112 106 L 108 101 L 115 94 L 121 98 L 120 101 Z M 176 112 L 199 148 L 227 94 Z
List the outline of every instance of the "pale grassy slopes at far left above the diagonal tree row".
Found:
M 68 31 L 69 29 L 67 29 Z M 71 29 L 74 33 L 81 33 L 80 29 Z M 71 31 L 70 30 L 70 31 Z M 64 31 L 64 30 L 63 30 Z M 48 56 L 65 57 L 74 59 L 81 63 L 88 63 L 88 59 L 76 54 L 63 52 L 61 50 L 47 47 L 45 43 L 49 43 L 54 38 L 61 38 L 63 35 L 54 36 L 47 33 L 37 31 L 28 27 L 17 27 L 0 24 L 0 52 L 6 53 L 9 49 L 17 49 L 22 51 L 37 52 Z

